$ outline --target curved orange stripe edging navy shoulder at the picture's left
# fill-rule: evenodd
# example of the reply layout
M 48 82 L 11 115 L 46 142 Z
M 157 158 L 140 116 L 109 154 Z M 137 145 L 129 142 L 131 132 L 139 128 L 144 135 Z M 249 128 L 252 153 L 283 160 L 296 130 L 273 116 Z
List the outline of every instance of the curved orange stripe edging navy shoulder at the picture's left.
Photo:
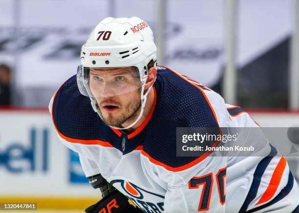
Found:
M 64 85 L 64 83 L 62 84 Z M 59 87 L 59 89 L 62 87 L 62 85 Z M 95 144 L 95 145 L 101 145 L 101 146 L 105 146 L 105 147 L 113 147 L 110 143 L 106 142 L 106 141 L 102 141 L 102 140 L 81 140 L 81 139 L 75 139 L 75 138 L 71 138 L 71 137 L 67 137 L 64 136 L 61 132 L 58 131 L 55 122 L 54 122 L 54 117 L 53 117 L 53 106 L 54 106 L 54 101 L 55 101 L 55 97 L 59 91 L 59 89 L 56 91 L 54 98 L 53 98 L 53 103 L 52 103 L 52 122 L 54 124 L 55 130 L 57 131 L 58 135 L 61 136 L 62 138 L 64 138 L 64 140 L 71 142 L 71 143 L 81 143 L 81 144 Z

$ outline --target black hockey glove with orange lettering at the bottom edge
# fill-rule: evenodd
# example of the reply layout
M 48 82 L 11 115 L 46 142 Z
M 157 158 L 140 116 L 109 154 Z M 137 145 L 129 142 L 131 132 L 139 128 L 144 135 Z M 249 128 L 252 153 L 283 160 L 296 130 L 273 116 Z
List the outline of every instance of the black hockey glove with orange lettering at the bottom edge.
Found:
M 142 213 L 142 211 L 130 205 L 124 194 L 114 191 L 85 209 L 85 213 Z

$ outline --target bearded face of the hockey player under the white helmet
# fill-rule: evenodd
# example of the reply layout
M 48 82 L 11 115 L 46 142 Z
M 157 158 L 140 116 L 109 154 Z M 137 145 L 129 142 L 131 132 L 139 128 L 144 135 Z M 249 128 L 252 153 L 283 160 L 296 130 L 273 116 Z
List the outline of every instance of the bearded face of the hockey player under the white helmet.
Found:
M 132 67 L 91 69 L 89 87 L 107 125 L 121 127 L 138 116 L 141 82 Z

